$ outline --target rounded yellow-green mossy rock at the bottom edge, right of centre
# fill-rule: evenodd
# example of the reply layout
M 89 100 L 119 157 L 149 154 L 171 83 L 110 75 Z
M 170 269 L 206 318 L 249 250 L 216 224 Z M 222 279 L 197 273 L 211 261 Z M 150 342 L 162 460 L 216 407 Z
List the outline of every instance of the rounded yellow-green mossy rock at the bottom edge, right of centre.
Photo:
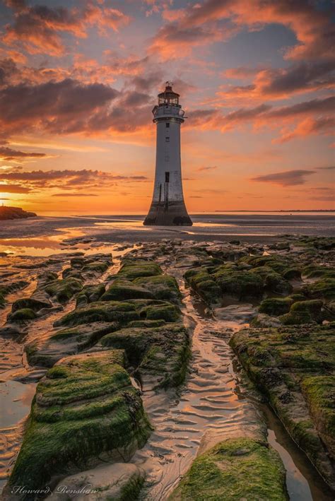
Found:
M 196 458 L 169 500 L 285 501 L 285 468 L 266 442 L 225 440 Z

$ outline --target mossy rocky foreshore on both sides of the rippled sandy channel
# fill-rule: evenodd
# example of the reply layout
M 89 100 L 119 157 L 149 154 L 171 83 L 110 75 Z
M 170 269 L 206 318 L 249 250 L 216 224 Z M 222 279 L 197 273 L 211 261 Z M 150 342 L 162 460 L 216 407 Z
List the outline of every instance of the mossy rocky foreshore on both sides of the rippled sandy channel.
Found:
M 37 497 L 13 493 L 16 485 L 46 497 L 87 479 L 96 489 L 88 501 L 135 500 L 148 488 L 146 468 L 128 462 L 156 434 L 148 402 L 177 395 L 196 356 L 183 284 L 223 329 L 249 385 L 335 488 L 335 239 L 163 240 L 139 243 L 120 264 L 111 254 L 67 252 L 36 258 L 25 273 L 15 259 L 12 276 L 0 272 L 1 332 L 23 337 L 29 370 L 44 375 L 4 497 Z M 24 294 L 28 273 L 35 288 Z M 206 399 L 201 381 L 199 391 Z M 224 436 L 214 427 L 170 499 L 288 499 L 281 457 L 258 411 L 253 419 Z M 185 423 L 192 433 L 196 421 Z M 66 497 L 57 491 L 57 499 Z

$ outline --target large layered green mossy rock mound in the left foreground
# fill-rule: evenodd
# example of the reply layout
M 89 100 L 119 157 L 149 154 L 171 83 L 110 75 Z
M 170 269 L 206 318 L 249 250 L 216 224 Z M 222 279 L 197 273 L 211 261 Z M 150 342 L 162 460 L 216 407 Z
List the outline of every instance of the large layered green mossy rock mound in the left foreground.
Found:
M 150 432 L 121 351 L 61 360 L 37 385 L 23 444 L 9 479 L 42 488 L 52 476 L 83 471 L 142 447 Z M 119 450 L 119 452 L 118 452 Z

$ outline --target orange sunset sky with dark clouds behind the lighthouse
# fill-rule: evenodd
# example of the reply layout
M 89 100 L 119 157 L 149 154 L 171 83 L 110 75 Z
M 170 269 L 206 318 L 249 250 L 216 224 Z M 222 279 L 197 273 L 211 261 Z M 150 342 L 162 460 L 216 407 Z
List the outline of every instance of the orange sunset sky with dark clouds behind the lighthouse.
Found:
M 180 94 L 190 212 L 334 208 L 331 0 L 0 0 L 0 203 L 146 213 Z

